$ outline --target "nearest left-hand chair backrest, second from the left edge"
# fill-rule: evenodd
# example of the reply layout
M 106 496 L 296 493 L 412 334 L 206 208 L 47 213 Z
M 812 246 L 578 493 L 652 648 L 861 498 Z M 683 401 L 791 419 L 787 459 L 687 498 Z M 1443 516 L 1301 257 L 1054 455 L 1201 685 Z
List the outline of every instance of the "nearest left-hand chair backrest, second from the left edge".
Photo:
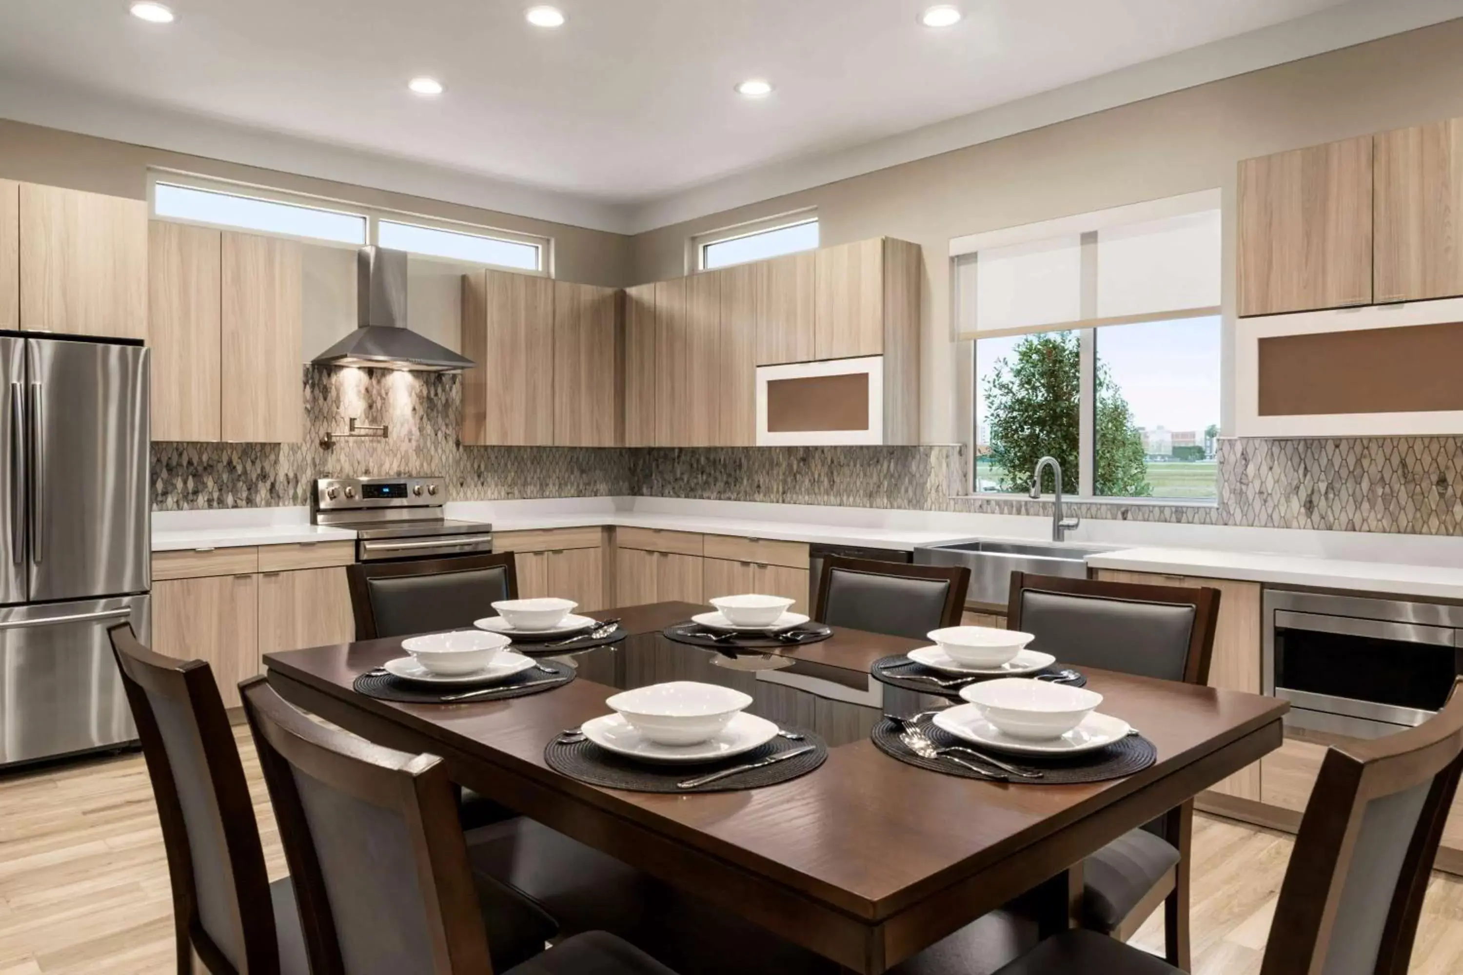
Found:
M 319 725 L 240 684 L 312 975 L 493 971 L 446 765 Z

